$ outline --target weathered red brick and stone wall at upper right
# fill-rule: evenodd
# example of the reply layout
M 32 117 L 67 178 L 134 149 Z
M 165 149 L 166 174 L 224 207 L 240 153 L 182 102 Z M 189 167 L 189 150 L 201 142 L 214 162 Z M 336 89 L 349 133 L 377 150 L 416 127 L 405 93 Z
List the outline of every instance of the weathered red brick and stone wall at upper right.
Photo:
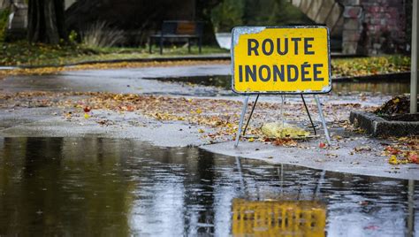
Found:
M 346 54 L 400 52 L 406 47 L 405 1 L 343 0 L 342 48 Z

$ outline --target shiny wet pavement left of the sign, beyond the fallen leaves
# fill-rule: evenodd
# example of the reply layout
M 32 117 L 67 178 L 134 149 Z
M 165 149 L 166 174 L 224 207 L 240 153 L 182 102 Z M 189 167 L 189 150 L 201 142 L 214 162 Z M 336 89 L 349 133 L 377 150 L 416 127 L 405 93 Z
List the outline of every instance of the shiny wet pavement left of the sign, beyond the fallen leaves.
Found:
M 106 91 L 147 95 L 194 95 L 215 96 L 220 89 L 208 87 L 185 87 L 181 84 L 162 83 L 143 78 L 171 76 L 227 75 L 226 65 L 186 65 L 175 67 L 131 68 L 118 70 L 92 70 L 59 73 L 57 75 L 13 76 L 0 80 L 4 91 Z M 1 91 L 1 90 L 0 90 Z M 225 92 L 224 92 L 225 93 Z

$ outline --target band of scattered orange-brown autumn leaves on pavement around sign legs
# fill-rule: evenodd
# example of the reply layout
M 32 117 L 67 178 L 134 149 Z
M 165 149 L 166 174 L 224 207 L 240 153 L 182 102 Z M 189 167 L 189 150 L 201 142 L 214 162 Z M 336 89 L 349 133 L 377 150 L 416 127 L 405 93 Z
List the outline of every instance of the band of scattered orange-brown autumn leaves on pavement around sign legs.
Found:
M 225 99 L 123 95 L 105 92 L 56 93 L 33 91 L 0 94 L 0 109 L 4 110 L 52 106 L 62 108 L 65 111 L 61 115 L 64 119 L 72 120 L 87 116 L 89 121 L 101 126 L 112 126 L 115 125 L 115 122 L 107 118 L 90 117 L 92 112 L 96 110 L 116 111 L 120 113 L 132 112 L 160 121 L 172 121 L 198 126 L 201 128 L 196 128 L 197 130 L 195 131 L 200 133 L 203 139 L 216 142 L 234 140 L 238 130 L 242 104 L 238 101 Z M 249 111 L 251 106 L 252 103 L 248 103 Z M 287 122 L 309 124 L 302 103 L 286 103 L 284 106 Z M 318 116 L 315 112 L 316 104 L 309 103 L 308 106 L 309 110 L 313 111 L 312 117 Z M 326 114 L 326 118 L 332 119 L 331 126 L 343 127 L 348 132 L 352 132 L 355 128 L 347 121 L 347 118 L 349 111 L 358 108 L 357 106 L 357 103 L 342 103 L 339 105 L 326 103 L 324 105 L 324 113 Z M 277 146 L 296 147 L 297 149 L 316 149 L 316 146 L 309 147 L 304 142 L 297 142 L 293 139 L 271 140 L 265 138 L 260 128 L 267 120 L 278 121 L 280 117 L 278 115 L 279 110 L 279 103 L 258 103 L 258 111 L 254 114 L 246 133 L 250 137 L 248 141 L 272 143 Z M 293 116 L 290 116 L 291 114 Z M 339 142 L 356 139 L 356 136 L 340 136 Z M 383 156 L 386 157 L 386 160 L 391 156 L 396 156 L 396 160 L 392 159 L 394 164 L 402 164 L 405 162 L 403 160 L 406 160 L 406 163 L 417 163 L 419 144 L 417 137 L 394 138 L 391 141 L 392 143 L 386 144 L 383 150 Z M 324 142 L 318 145 L 318 148 L 326 147 Z M 369 146 L 362 145 L 354 148 L 352 153 L 369 152 L 371 150 Z M 326 157 L 333 158 L 336 156 L 328 153 Z

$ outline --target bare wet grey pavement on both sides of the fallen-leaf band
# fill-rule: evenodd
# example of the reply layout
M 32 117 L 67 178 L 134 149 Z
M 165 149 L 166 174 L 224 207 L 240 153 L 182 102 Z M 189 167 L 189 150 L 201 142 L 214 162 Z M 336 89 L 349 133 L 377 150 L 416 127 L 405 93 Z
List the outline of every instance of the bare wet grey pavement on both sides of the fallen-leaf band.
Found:
M 77 71 L 48 76 L 16 76 L 0 80 L 0 89 L 4 92 L 27 90 L 51 91 L 107 91 L 114 93 L 139 93 L 173 96 L 218 96 L 225 99 L 240 99 L 230 91 L 221 88 L 187 86 L 184 84 L 147 80 L 167 75 L 200 76 L 228 75 L 228 65 L 193 65 L 176 67 L 155 67 L 118 69 L 103 71 Z M 221 95 L 221 96 L 220 96 Z M 324 96 L 324 103 L 357 102 L 351 96 Z M 365 104 L 382 103 L 386 97 L 368 98 Z M 294 97 L 294 100 L 298 98 Z M 278 97 L 266 97 L 266 101 L 278 102 Z M 271 163 L 286 163 L 324 169 L 332 172 L 352 172 L 357 174 L 384 176 L 400 179 L 419 180 L 418 165 L 406 164 L 395 166 L 386 162 L 387 157 L 380 157 L 380 142 L 360 136 L 354 141 L 341 144 L 337 150 L 318 149 L 319 140 L 309 141 L 310 149 L 275 147 L 261 142 L 242 142 L 239 149 L 232 148 L 232 142 L 209 144 L 201 139 L 197 132 L 199 126 L 189 126 L 181 122 L 160 122 L 143 118 L 136 113 L 118 114 L 110 111 L 95 111 L 96 117 L 118 121 L 118 126 L 99 126 L 86 119 L 57 118 L 57 108 L 27 108 L 18 110 L 0 110 L 0 136 L 103 136 L 149 141 L 158 146 L 201 146 L 212 152 L 232 157 L 261 159 Z M 210 128 L 206 128 L 210 129 Z M 335 131 L 336 132 L 336 131 Z M 369 145 L 372 152 L 353 153 L 356 146 Z

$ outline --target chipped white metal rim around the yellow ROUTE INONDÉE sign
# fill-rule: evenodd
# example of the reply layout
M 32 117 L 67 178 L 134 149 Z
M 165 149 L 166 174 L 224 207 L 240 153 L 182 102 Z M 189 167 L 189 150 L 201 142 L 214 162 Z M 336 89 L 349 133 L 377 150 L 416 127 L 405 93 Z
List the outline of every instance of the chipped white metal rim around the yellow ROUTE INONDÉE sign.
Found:
M 320 90 L 320 91 L 252 91 L 252 92 L 240 92 L 235 89 L 235 83 L 234 83 L 234 47 L 237 44 L 236 42 L 239 41 L 240 33 L 238 31 L 244 31 L 246 34 L 252 34 L 261 32 L 265 29 L 301 29 L 301 28 L 323 28 L 326 30 L 327 33 L 327 54 L 328 54 L 328 69 L 329 69 L 329 87 L 328 90 Z M 238 35 L 237 35 L 238 34 Z M 237 38 L 236 38 L 237 37 Z M 284 26 L 284 27 L 234 27 L 232 28 L 232 47 L 230 50 L 230 57 L 232 58 L 232 91 L 239 95 L 300 95 L 300 94 L 307 94 L 307 95 L 313 95 L 313 94 L 327 94 L 331 92 L 331 46 L 330 46 L 330 32 L 328 27 L 323 26 Z

